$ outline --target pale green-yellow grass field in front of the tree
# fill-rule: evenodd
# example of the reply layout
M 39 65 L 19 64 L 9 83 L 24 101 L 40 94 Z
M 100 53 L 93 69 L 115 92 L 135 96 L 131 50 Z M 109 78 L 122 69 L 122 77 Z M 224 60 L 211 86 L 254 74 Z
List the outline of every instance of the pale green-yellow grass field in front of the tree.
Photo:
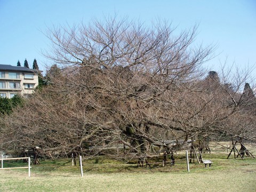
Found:
M 0 191 L 256 191 L 254 158 L 204 154 L 204 159 L 213 161 L 212 167 L 190 163 L 188 173 L 183 157 L 177 156 L 175 166 L 162 167 L 159 162 L 151 164 L 151 169 L 90 159 L 83 161 L 84 177 L 79 166 L 70 166 L 70 159 L 43 161 L 32 166 L 30 178 L 25 169 L 0 170 Z

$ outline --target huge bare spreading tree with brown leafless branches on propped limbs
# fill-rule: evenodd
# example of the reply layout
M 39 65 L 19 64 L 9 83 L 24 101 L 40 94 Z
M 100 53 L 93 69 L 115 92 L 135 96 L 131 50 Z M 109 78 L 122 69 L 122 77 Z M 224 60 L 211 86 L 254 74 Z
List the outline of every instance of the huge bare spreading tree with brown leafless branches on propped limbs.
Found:
M 196 27 L 177 35 L 165 22 L 146 27 L 115 17 L 47 35 L 45 54 L 61 69 L 6 119 L 6 148 L 39 146 L 56 157 L 122 145 L 118 155 L 146 157 L 199 137 L 255 141 L 255 114 L 238 92 L 245 79 L 234 90 L 226 76 L 204 77 L 213 49 L 193 46 Z

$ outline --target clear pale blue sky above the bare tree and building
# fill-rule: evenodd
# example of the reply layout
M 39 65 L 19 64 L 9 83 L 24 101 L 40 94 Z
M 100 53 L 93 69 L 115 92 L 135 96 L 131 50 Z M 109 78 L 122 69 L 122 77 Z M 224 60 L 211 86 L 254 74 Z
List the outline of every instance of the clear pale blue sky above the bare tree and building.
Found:
M 256 0 L 0 0 L 0 64 L 39 68 L 51 62 L 41 55 L 49 47 L 46 27 L 89 22 L 104 15 L 128 16 L 150 22 L 172 21 L 179 29 L 199 23 L 196 43 L 217 44 L 216 57 L 205 66 L 218 71 L 220 63 L 256 65 Z M 256 77 L 254 69 L 253 76 Z

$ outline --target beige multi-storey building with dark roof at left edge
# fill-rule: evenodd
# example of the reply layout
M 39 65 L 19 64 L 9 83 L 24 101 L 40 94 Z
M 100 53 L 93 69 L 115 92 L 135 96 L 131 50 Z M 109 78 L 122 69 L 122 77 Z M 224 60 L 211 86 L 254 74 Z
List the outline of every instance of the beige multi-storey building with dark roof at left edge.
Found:
M 38 85 L 34 69 L 11 65 L 0 65 L 0 97 L 12 98 L 15 94 L 26 96 Z

